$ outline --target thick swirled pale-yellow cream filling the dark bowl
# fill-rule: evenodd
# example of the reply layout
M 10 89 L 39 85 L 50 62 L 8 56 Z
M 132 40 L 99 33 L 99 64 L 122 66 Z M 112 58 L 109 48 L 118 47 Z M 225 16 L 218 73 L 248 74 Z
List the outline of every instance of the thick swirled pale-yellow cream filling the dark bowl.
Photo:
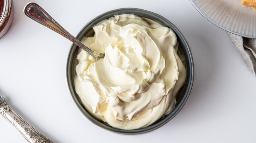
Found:
M 97 62 L 79 49 L 75 90 L 96 118 L 120 129 L 148 126 L 169 112 L 186 70 L 167 27 L 136 15 L 117 15 L 93 27 L 82 42 L 105 53 Z

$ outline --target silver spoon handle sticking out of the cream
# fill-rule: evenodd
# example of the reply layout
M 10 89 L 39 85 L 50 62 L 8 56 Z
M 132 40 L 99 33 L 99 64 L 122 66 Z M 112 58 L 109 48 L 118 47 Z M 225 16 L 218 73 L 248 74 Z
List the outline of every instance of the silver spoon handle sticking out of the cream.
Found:
M 68 40 L 71 40 L 77 46 L 82 48 L 88 54 L 93 56 L 97 61 L 99 58 L 103 58 L 105 55 L 102 53 L 97 53 L 92 49 L 85 46 L 81 41 L 77 40 L 73 35 L 71 35 L 68 31 L 66 31 L 60 24 L 58 24 L 43 8 L 41 8 L 36 3 L 28 3 L 24 7 L 24 14 L 31 18 L 32 20 L 52 29 L 58 34 L 64 36 Z

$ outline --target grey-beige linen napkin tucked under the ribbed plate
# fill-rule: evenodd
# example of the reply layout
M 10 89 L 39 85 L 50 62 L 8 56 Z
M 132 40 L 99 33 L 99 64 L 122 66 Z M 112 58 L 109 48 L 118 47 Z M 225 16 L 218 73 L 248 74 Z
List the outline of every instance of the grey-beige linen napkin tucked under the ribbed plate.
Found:
M 256 75 L 256 39 L 245 38 L 229 32 L 227 35 L 241 53 L 248 68 Z

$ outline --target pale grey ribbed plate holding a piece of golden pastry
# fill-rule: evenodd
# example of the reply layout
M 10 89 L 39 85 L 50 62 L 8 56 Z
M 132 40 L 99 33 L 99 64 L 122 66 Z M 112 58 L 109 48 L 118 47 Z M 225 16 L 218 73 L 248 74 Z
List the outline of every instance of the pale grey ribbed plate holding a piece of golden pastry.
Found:
M 241 0 L 190 0 L 194 7 L 216 26 L 248 38 L 256 38 L 256 11 Z

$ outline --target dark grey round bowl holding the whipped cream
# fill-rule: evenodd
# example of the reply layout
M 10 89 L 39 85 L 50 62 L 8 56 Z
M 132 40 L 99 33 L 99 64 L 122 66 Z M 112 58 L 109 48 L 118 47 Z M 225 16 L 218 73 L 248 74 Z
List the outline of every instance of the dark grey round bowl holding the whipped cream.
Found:
M 167 19 L 165 19 L 164 17 L 162 17 L 156 13 L 146 11 L 143 9 L 138 9 L 138 8 L 121 8 L 121 9 L 112 10 L 112 11 L 106 12 L 102 15 L 99 15 L 98 17 L 93 19 L 91 22 L 89 22 L 87 25 L 85 25 L 82 28 L 82 30 L 78 33 L 76 38 L 78 40 L 81 40 L 84 36 L 92 35 L 93 34 L 93 30 L 92 30 L 93 25 L 101 22 L 102 20 L 111 18 L 114 15 L 119 15 L 119 14 L 135 14 L 135 15 L 138 15 L 138 16 L 141 16 L 144 18 L 148 18 L 155 22 L 158 22 L 159 24 L 161 24 L 163 26 L 171 28 L 175 32 L 177 39 L 180 43 L 180 48 L 185 56 L 185 61 L 186 61 L 185 67 L 187 70 L 187 78 L 185 81 L 185 85 L 180 89 L 180 92 L 178 93 L 178 96 L 176 98 L 177 99 L 176 107 L 168 115 L 160 118 L 158 121 L 156 121 L 152 125 L 147 126 L 145 128 L 136 129 L 136 130 L 116 129 L 116 128 L 111 127 L 108 123 L 105 123 L 103 121 L 99 121 L 99 120 L 95 119 L 91 114 L 89 114 L 86 111 L 86 109 L 84 108 L 84 106 L 82 105 L 82 103 L 80 101 L 80 98 L 78 97 L 78 95 L 75 92 L 74 75 L 75 75 L 75 66 L 78 63 L 78 61 L 76 60 L 78 47 L 75 44 L 73 44 L 71 46 L 71 49 L 70 49 L 70 52 L 69 52 L 68 58 L 67 58 L 67 65 L 66 65 L 67 86 L 68 86 L 68 89 L 70 91 L 70 94 L 71 94 L 73 100 L 75 101 L 76 106 L 79 108 L 79 110 L 82 112 L 82 114 L 86 118 L 88 118 L 90 121 L 92 121 L 94 124 L 104 128 L 106 130 L 109 130 L 109 131 L 115 132 L 115 133 L 119 133 L 119 134 L 135 135 L 135 134 L 147 133 L 147 132 L 153 131 L 153 130 L 161 127 L 162 125 L 166 124 L 168 121 L 173 119 L 181 111 L 181 109 L 187 102 L 188 97 L 191 92 L 191 89 L 192 89 L 192 86 L 193 86 L 193 79 L 194 79 L 193 59 L 192 59 L 191 52 L 190 52 L 189 46 L 188 46 L 185 38 L 183 37 L 181 32 L 171 22 L 169 22 Z

